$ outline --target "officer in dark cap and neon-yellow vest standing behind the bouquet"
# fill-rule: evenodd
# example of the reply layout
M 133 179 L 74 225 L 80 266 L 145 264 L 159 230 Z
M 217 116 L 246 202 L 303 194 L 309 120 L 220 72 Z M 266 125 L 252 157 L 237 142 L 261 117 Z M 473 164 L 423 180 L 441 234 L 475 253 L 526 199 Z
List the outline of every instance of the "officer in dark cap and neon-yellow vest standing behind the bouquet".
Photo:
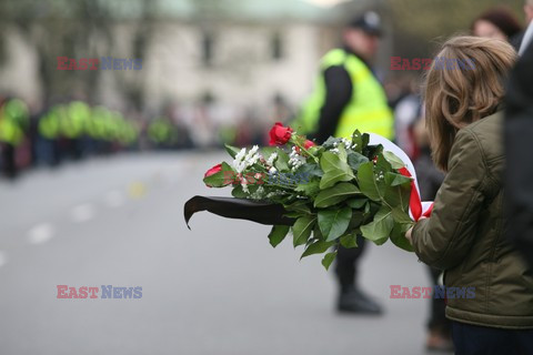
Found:
M 343 31 L 343 48 L 328 52 L 321 60 L 313 94 L 305 102 L 293 126 L 319 144 L 330 135 L 351 138 L 355 130 L 393 139 L 393 118 L 383 87 L 371 63 L 382 34 L 378 13 L 368 11 L 351 21 Z M 339 281 L 338 311 L 381 314 L 381 306 L 365 295 L 358 284 L 358 264 L 365 240 L 359 247 L 340 246 L 335 273 Z

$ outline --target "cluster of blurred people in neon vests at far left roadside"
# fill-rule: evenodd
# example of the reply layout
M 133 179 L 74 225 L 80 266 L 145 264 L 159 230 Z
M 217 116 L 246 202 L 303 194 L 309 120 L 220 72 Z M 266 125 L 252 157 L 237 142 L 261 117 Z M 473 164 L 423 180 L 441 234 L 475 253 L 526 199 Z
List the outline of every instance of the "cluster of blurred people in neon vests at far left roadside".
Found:
M 139 146 L 142 126 L 120 112 L 82 101 L 32 112 L 18 98 L 0 101 L 0 168 L 14 179 L 37 165 L 57 166 L 66 160 L 110 154 Z

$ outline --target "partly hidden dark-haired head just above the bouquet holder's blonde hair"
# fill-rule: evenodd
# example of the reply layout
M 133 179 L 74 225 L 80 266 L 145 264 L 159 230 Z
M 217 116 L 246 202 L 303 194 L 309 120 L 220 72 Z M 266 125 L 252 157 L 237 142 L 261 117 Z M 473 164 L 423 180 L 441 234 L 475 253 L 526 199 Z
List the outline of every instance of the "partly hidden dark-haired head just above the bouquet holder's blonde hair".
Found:
M 473 36 L 495 38 L 510 42 L 517 50 L 522 26 L 514 14 L 506 8 L 494 8 L 483 12 L 471 26 Z

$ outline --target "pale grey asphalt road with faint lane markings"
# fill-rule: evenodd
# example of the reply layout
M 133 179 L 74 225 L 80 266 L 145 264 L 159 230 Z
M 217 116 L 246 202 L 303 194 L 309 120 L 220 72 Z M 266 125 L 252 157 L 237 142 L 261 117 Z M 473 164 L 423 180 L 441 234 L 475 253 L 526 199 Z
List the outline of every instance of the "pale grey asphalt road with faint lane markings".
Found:
M 189 231 L 187 199 L 229 195 L 201 181 L 224 158 L 120 155 L 0 181 L 0 354 L 424 354 L 428 300 L 390 298 L 392 284 L 431 286 L 413 254 L 369 247 L 362 285 L 386 313 L 341 316 L 320 257 L 272 248 L 268 226 L 203 212 Z M 102 285 L 142 296 L 101 298 Z

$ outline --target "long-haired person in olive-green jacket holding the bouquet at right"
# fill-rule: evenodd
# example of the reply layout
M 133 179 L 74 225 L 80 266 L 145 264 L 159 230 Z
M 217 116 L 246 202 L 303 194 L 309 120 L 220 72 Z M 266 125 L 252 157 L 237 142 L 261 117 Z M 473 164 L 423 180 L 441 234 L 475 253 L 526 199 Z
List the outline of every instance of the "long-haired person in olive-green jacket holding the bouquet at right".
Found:
M 446 290 L 475 290 L 446 294 L 456 354 L 533 354 L 533 271 L 504 236 L 501 101 L 516 54 L 500 40 L 457 37 L 436 57 L 457 60 L 433 63 L 425 87 L 433 160 L 447 174 L 431 217 L 406 237 L 445 271 Z

